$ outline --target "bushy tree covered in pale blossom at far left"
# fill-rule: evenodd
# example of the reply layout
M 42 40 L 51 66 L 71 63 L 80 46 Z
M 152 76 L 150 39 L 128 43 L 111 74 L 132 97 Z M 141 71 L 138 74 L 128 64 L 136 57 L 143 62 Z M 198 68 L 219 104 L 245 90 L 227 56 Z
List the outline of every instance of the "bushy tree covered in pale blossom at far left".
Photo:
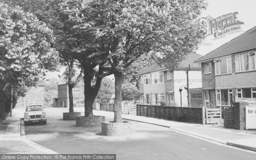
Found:
M 35 15 L 5 3 L 0 3 L 0 28 L 0 95 L 10 100 L 13 88 L 17 99 L 48 70 L 56 70 L 55 37 Z

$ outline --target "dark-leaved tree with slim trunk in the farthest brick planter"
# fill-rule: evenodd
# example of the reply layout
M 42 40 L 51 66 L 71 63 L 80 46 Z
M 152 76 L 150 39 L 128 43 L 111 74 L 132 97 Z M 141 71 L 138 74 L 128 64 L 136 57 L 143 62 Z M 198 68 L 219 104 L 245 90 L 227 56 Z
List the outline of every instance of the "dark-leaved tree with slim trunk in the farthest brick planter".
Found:
M 60 64 L 68 68 L 69 73 L 66 74 L 67 84 L 69 88 L 69 111 L 73 112 L 73 92 L 75 86 L 73 70 L 77 61 L 72 52 L 77 42 L 73 35 L 72 27 L 74 23 L 68 21 L 68 15 L 60 13 L 59 2 L 61 0 L 3 0 L 12 5 L 19 5 L 26 12 L 32 12 L 39 20 L 45 22 L 54 32 L 56 37 L 53 46 L 58 50 Z

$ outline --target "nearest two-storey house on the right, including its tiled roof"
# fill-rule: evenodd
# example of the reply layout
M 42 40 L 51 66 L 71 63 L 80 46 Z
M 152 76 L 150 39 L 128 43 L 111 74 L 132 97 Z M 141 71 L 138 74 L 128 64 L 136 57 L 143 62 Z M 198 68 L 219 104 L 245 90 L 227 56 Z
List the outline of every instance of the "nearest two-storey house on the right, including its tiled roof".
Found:
M 201 63 L 204 105 L 256 101 L 256 26 L 195 61 Z

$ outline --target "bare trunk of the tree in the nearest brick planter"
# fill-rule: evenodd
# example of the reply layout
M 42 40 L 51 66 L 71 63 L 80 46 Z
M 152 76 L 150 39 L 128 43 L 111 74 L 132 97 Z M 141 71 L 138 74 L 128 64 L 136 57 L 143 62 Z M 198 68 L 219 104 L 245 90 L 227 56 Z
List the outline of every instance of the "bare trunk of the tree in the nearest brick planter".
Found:
M 122 73 L 114 73 L 115 76 L 115 117 L 114 123 L 122 122 Z

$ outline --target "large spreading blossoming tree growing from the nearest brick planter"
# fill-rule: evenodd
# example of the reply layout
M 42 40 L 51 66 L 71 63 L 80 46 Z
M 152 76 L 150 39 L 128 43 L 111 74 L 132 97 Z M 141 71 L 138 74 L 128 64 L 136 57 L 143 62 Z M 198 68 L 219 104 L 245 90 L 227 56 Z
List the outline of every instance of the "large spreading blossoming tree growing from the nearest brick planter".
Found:
M 197 49 L 196 19 L 205 0 L 65 0 L 63 5 L 84 39 L 100 49 L 115 76 L 115 118 L 122 122 L 123 73 L 141 55 L 150 54 L 161 65 L 173 69 Z M 84 46 L 81 45 L 84 49 Z M 107 58 L 105 55 L 108 55 Z

